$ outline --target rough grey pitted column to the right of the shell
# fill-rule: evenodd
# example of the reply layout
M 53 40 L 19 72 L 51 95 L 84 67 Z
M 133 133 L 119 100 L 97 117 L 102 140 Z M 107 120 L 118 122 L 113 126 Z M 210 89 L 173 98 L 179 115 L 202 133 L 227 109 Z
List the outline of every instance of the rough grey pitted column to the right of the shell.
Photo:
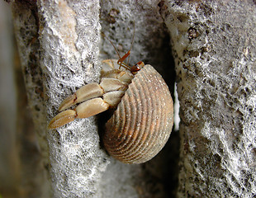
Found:
M 253 197 L 256 4 L 162 1 L 180 101 L 178 197 Z

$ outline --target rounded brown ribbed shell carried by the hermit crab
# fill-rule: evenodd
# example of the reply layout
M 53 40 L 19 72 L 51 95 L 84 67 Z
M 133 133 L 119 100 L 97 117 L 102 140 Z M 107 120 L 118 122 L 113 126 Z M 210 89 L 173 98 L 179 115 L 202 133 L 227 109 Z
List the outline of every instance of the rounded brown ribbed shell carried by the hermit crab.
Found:
M 123 163 L 145 163 L 166 144 L 173 127 L 173 100 L 161 75 L 149 64 L 132 79 L 107 121 L 103 144 Z

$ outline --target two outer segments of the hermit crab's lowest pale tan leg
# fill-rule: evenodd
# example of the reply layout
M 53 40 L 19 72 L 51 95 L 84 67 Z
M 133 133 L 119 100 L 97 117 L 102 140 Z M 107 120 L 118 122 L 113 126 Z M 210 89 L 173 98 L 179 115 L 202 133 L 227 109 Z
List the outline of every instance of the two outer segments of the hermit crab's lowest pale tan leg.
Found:
M 62 125 L 68 124 L 75 118 L 87 118 L 92 115 L 97 115 L 103 111 L 107 111 L 109 105 L 102 98 L 97 97 L 88 101 L 84 101 L 74 110 L 66 110 L 56 115 L 48 125 L 48 129 L 53 130 Z

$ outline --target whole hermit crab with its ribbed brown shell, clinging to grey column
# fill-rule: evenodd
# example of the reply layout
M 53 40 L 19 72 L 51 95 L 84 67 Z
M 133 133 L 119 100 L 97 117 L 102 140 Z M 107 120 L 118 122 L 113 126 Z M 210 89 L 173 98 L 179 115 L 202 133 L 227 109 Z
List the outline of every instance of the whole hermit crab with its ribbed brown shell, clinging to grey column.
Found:
M 145 163 L 159 153 L 171 134 L 173 100 L 151 65 L 124 63 L 129 55 L 130 50 L 118 60 L 104 60 L 100 83 L 84 85 L 67 97 L 49 128 L 114 109 L 102 135 L 107 153 L 123 163 Z

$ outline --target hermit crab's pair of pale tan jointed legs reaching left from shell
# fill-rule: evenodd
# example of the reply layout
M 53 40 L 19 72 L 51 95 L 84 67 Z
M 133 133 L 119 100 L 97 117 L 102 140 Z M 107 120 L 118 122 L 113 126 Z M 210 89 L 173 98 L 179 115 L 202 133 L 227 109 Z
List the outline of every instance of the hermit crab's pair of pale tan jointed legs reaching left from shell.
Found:
M 120 76 L 120 78 L 130 79 L 125 75 Z M 64 99 L 59 106 L 59 111 L 62 112 L 50 120 L 48 128 L 55 129 L 73 121 L 75 118 L 87 118 L 102 111 L 107 111 L 108 108 L 116 106 L 121 101 L 121 97 L 125 94 L 127 88 L 127 82 L 122 82 L 116 78 L 102 78 L 100 84 L 84 85 L 73 95 Z M 77 103 L 81 104 L 73 110 L 66 110 Z

